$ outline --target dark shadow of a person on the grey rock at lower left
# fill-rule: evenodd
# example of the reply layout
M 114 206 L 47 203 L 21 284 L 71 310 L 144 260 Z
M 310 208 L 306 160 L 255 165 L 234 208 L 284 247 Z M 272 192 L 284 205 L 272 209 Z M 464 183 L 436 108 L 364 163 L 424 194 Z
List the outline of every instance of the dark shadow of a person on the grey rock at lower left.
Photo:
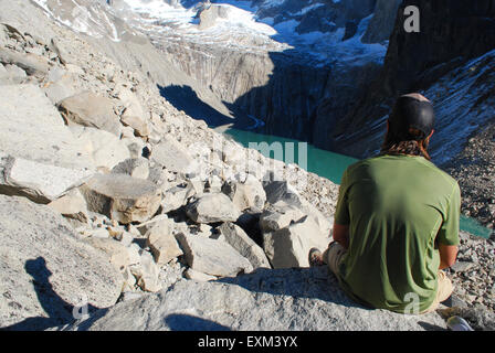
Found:
M 43 257 L 29 259 L 24 265 L 25 271 L 33 278 L 32 284 L 38 296 L 41 308 L 46 317 L 27 318 L 21 322 L 2 328 L 4 331 L 41 331 L 49 328 L 62 325 L 74 320 L 74 306 L 62 299 L 50 282 L 52 272 L 46 267 Z M 77 309 L 77 308 L 76 308 Z M 91 313 L 98 308 L 88 304 L 87 312 Z

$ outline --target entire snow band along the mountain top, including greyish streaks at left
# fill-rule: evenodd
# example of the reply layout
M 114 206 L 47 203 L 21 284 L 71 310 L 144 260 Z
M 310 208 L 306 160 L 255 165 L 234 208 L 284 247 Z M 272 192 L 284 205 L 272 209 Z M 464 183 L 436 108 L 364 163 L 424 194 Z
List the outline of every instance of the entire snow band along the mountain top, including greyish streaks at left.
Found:
M 334 32 L 299 34 L 297 28 L 302 17 L 323 7 L 322 2 L 302 3 L 298 11 L 274 24 L 273 18 L 260 19 L 257 13 L 277 7 L 283 9 L 286 0 L 267 0 L 259 2 L 256 7 L 250 0 L 218 0 L 211 6 L 222 7 L 222 15 L 217 17 L 212 25 L 201 28 L 198 19 L 198 10 L 204 7 L 201 1 L 115 0 L 114 7 L 107 6 L 104 0 L 32 1 L 61 25 L 94 38 L 107 36 L 113 41 L 119 41 L 120 32 L 124 31 L 120 24 L 116 24 L 116 18 L 120 18 L 151 39 L 183 39 L 251 52 L 296 51 L 312 58 L 315 65 L 329 62 L 337 65 L 382 62 L 387 52 L 387 43 L 364 44 L 360 41 L 370 17 L 360 22 L 355 36 L 344 42 L 344 28 Z M 187 8 L 182 3 L 191 7 Z

